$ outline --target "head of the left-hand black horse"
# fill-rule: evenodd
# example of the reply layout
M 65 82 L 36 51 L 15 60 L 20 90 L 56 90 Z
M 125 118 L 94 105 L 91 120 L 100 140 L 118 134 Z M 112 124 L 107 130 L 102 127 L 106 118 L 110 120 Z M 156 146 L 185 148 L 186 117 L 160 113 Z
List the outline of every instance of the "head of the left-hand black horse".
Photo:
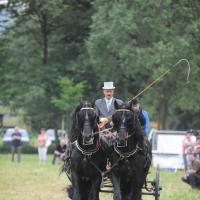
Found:
M 82 133 L 83 144 L 93 144 L 94 134 L 93 129 L 96 125 L 96 112 L 94 109 L 95 97 L 92 102 L 82 101 L 80 98 L 76 119 Z

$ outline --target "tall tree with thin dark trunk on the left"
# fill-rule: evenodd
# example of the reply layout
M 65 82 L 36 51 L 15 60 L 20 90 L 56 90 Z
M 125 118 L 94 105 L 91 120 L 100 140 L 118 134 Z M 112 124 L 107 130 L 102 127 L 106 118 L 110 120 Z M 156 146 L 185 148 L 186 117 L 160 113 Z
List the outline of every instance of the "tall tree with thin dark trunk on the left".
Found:
M 6 6 L 14 13 L 15 20 L 2 36 L 8 41 L 6 48 L 10 51 L 4 91 L 17 88 L 7 99 L 15 101 L 16 109 L 24 108 L 25 120 L 34 129 L 57 130 L 63 109 L 52 103 L 52 97 L 59 99 L 62 93 L 59 77 L 73 76 L 76 83 L 83 81 L 79 69 L 84 65 L 91 4 L 70 0 L 10 0 Z

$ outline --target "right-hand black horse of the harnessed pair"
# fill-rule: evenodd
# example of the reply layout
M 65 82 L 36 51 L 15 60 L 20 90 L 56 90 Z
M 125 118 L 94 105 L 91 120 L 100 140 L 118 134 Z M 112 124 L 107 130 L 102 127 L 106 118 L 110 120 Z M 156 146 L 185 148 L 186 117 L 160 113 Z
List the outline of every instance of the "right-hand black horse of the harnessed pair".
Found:
M 112 145 L 110 162 L 115 200 L 140 200 L 141 190 L 151 164 L 151 148 L 139 122 L 139 116 L 132 109 L 132 103 L 118 105 L 112 120 L 116 139 Z

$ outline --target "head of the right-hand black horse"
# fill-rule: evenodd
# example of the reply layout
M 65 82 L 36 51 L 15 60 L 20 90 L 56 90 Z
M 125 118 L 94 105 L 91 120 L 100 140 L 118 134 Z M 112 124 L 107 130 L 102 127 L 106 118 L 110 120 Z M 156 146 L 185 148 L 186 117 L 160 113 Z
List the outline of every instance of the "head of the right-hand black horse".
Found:
M 112 120 L 114 123 L 114 130 L 117 132 L 117 146 L 127 146 L 128 137 L 130 137 L 134 131 L 135 115 L 131 112 L 132 102 L 123 102 L 119 105 L 115 100 L 114 106 L 116 113 L 113 115 Z

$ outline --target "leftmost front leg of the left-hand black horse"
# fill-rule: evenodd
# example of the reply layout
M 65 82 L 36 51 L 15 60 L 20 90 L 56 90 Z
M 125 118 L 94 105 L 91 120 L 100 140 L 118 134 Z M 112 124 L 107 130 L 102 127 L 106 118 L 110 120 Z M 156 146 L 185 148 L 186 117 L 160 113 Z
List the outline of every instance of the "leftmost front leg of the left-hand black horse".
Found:
M 72 186 L 73 186 L 73 197 L 72 200 L 83 200 L 81 197 L 81 181 L 82 178 L 78 177 L 76 171 L 71 171 Z

